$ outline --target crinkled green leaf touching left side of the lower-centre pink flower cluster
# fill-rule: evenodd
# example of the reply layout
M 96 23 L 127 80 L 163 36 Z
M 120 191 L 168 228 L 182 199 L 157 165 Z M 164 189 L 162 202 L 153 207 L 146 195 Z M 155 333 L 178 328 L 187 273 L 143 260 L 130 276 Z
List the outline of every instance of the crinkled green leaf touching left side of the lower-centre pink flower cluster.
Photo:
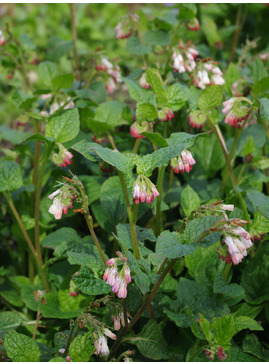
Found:
M 73 281 L 81 292 L 90 296 L 107 294 L 111 291 L 111 287 L 105 281 L 96 278 L 86 267 L 81 268 L 79 274 L 73 277 Z

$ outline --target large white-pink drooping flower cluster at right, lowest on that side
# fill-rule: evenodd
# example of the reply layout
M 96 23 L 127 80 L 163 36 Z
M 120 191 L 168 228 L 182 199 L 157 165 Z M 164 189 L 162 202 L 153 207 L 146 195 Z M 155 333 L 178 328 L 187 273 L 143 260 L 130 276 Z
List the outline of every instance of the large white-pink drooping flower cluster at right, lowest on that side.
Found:
M 229 206 L 229 205 L 228 205 Z M 224 239 L 222 246 L 227 250 L 217 250 L 218 257 L 222 258 L 226 263 L 237 265 L 242 262 L 242 259 L 247 256 L 247 249 L 252 246 L 250 234 L 242 227 L 248 221 L 240 219 L 230 220 L 230 225 L 226 224 L 222 227 Z

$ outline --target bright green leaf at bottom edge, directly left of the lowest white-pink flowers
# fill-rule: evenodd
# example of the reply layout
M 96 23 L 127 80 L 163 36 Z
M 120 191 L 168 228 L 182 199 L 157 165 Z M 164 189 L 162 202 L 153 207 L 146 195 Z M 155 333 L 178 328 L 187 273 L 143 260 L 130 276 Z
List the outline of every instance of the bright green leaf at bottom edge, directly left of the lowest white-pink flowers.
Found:
M 94 339 L 91 332 L 75 337 L 69 348 L 69 354 L 72 361 L 80 362 L 89 361 L 94 351 Z

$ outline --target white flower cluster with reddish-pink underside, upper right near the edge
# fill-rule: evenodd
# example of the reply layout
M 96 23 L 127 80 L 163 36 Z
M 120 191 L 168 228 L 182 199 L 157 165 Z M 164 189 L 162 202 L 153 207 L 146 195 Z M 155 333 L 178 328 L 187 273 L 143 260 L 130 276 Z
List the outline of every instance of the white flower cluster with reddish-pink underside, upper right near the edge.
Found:
M 242 121 L 245 120 L 250 113 L 250 110 L 247 106 L 241 105 L 240 103 L 245 99 L 244 97 L 232 97 L 231 99 L 224 101 L 222 109 L 222 113 L 226 115 L 225 124 L 229 124 L 234 128 L 241 128 Z

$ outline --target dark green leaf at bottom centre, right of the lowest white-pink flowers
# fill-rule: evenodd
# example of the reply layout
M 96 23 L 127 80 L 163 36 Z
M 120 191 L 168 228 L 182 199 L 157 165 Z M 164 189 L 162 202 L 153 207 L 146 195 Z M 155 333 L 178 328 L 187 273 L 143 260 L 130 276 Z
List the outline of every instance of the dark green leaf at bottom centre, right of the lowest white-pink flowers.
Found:
M 136 345 L 138 350 L 146 358 L 161 360 L 167 357 L 166 342 L 160 326 L 154 320 L 148 321 L 140 334 L 135 338 L 128 339 Z

